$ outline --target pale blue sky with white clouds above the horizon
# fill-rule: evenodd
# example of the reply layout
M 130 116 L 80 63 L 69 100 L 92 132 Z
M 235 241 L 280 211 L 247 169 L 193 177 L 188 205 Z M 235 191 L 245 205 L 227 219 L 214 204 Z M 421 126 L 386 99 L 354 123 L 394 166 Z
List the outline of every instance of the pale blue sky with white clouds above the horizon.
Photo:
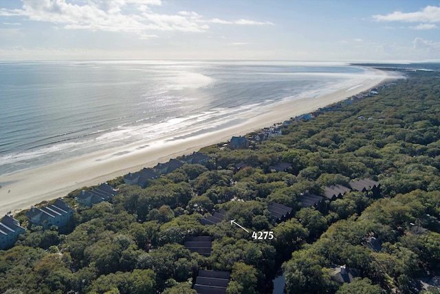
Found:
M 0 59 L 440 61 L 440 0 L 2 0 Z

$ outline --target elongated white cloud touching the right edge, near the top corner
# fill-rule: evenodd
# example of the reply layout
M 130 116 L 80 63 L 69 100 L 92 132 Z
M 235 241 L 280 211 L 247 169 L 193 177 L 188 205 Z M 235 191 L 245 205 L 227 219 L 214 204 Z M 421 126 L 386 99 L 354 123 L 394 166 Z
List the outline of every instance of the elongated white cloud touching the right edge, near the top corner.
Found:
M 403 21 L 408 23 L 440 23 L 440 7 L 426 6 L 423 10 L 417 12 L 400 12 L 396 11 L 391 14 L 373 15 L 375 21 Z

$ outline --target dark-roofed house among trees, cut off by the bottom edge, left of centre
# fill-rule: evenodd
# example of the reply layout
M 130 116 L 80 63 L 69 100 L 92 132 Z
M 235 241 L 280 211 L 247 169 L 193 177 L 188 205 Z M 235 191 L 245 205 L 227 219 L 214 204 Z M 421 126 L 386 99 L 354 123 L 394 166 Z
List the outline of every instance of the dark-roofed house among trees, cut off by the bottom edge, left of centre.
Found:
M 226 294 L 230 280 L 228 271 L 199 270 L 194 289 L 199 294 Z

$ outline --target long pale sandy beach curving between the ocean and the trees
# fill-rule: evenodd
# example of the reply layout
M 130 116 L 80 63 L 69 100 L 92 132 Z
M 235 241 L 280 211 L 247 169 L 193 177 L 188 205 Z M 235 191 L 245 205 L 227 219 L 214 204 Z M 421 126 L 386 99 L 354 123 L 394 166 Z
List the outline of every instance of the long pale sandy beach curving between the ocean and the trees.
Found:
M 66 196 L 67 193 L 84 186 L 98 185 L 117 176 L 142 167 L 153 167 L 157 162 L 166 162 L 183 154 L 190 154 L 201 147 L 220 143 L 231 136 L 245 135 L 256 129 L 281 123 L 294 116 L 312 112 L 319 107 L 342 101 L 381 83 L 386 72 L 375 70 L 375 75 L 366 76 L 362 83 L 319 98 L 299 98 L 289 103 L 281 103 L 264 109 L 264 112 L 247 114 L 241 123 L 231 127 L 206 129 L 186 129 L 179 134 L 146 140 L 124 147 L 108 149 L 78 158 L 56 162 L 35 169 L 19 171 L 0 176 L 0 216 L 28 209 L 43 200 Z M 240 117 L 238 117 L 240 118 Z M 197 134 L 195 136 L 191 133 Z M 200 133 L 200 134 L 199 134 Z M 179 138 L 181 137 L 181 138 Z M 175 138 L 175 139 L 173 139 Z

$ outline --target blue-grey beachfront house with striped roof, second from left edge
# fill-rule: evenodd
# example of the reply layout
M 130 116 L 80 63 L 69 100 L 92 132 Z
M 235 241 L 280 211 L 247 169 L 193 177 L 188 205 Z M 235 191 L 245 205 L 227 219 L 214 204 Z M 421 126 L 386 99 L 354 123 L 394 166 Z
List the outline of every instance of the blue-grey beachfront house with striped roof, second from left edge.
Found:
M 52 226 L 64 227 L 72 218 L 74 210 L 63 199 L 57 199 L 41 209 L 32 207 L 25 214 L 33 225 L 50 229 Z

